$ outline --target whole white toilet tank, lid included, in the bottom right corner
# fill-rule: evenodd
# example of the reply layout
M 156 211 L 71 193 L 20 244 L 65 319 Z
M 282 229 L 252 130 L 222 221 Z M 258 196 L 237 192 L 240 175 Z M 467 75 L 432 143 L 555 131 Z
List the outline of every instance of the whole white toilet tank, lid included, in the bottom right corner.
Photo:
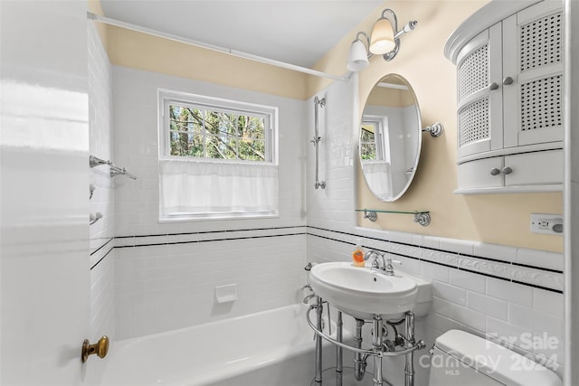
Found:
M 464 331 L 441 334 L 434 344 L 429 386 L 561 386 L 546 367 Z

